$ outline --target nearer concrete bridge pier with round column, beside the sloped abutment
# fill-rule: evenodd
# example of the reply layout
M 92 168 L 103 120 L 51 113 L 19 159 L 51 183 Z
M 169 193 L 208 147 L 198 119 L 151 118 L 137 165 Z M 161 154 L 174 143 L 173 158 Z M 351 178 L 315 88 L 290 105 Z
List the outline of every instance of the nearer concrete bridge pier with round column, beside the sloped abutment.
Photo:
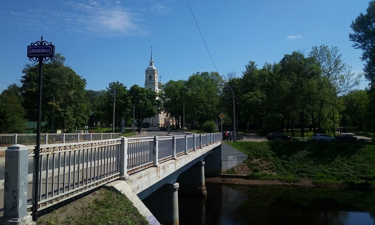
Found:
M 178 225 L 179 184 L 164 184 L 143 200 L 144 204 L 163 225 Z

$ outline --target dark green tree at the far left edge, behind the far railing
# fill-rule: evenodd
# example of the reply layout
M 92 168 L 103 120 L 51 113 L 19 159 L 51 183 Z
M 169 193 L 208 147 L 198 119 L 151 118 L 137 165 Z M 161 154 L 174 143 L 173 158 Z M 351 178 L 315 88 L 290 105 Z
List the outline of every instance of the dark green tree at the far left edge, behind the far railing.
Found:
M 0 133 L 23 133 L 26 129 L 22 96 L 16 84 L 0 95 Z

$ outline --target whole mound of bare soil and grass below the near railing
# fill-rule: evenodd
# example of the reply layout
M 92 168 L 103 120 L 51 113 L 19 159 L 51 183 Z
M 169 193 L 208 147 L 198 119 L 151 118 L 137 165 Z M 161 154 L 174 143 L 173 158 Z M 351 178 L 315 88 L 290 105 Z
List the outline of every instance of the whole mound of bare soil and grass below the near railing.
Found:
M 148 225 L 125 195 L 99 189 L 39 218 L 37 225 Z

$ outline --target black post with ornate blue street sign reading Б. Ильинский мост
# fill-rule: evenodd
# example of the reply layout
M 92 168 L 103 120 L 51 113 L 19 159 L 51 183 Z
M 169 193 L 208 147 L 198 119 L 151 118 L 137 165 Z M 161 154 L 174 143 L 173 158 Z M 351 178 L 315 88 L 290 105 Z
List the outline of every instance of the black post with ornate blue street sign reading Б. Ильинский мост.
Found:
M 42 70 L 43 62 L 47 62 L 55 56 L 55 46 L 51 42 L 43 40 L 43 36 L 35 43 L 27 46 L 27 57 L 29 60 L 39 62 L 39 95 L 38 95 L 38 121 L 36 128 L 36 147 L 34 150 L 34 202 L 33 202 L 33 220 L 38 219 L 38 195 L 39 195 L 39 163 L 40 163 L 40 120 L 42 116 Z M 46 137 L 47 138 L 47 137 Z M 53 191 L 53 190 L 52 190 Z

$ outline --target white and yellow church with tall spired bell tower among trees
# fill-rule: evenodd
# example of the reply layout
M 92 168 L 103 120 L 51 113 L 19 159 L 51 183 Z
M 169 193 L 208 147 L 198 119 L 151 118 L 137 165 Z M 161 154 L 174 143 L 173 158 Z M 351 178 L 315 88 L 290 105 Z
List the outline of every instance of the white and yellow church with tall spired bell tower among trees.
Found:
M 161 80 L 161 77 L 160 77 L 159 82 L 157 82 L 157 75 L 158 75 L 157 69 L 155 68 L 154 61 L 152 60 L 152 48 L 151 48 L 150 66 L 148 66 L 145 71 L 145 81 L 144 81 L 145 89 L 150 89 L 156 93 L 159 93 L 159 90 L 163 86 L 163 82 Z M 165 126 L 167 117 L 168 115 L 166 113 L 161 112 L 159 114 L 156 114 L 154 117 L 145 118 L 143 122 L 150 123 L 150 126 L 161 127 L 161 126 Z

